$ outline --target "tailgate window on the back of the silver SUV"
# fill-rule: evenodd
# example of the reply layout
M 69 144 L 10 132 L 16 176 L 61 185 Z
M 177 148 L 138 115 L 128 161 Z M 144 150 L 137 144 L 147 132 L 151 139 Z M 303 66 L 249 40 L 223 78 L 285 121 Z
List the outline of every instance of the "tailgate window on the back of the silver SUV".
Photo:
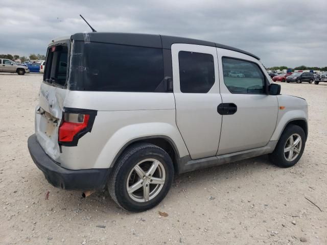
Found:
M 67 81 L 68 48 L 56 45 L 48 49 L 44 81 L 52 85 L 65 86 Z

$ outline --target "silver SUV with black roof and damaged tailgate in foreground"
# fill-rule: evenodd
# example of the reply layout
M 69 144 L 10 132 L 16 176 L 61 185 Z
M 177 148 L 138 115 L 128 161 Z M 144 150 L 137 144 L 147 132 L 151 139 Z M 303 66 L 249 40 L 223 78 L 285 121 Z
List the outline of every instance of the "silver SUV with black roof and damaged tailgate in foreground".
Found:
M 28 148 L 52 185 L 107 187 L 145 211 L 175 173 L 264 154 L 298 162 L 307 102 L 270 80 L 258 57 L 214 42 L 77 33 L 49 44 Z

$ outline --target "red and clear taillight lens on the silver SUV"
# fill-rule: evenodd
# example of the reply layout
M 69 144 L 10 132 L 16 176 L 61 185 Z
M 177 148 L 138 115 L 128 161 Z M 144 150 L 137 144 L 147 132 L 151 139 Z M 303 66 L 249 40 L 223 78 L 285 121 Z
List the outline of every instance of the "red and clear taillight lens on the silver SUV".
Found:
M 86 129 L 89 118 L 87 114 L 64 113 L 59 126 L 59 141 L 72 142 L 75 135 Z

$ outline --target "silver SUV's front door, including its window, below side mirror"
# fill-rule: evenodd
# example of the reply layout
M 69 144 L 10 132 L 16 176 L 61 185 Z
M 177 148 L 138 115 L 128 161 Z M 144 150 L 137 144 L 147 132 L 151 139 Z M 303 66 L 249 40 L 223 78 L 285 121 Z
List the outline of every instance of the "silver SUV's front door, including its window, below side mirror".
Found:
M 223 110 L 217 155 L 265 146 L 276 127 L 278 102 L 266 94 L 269 77 L 255 58 L 217 48 Z M 229 69 L 240 78 L 228 77 Z

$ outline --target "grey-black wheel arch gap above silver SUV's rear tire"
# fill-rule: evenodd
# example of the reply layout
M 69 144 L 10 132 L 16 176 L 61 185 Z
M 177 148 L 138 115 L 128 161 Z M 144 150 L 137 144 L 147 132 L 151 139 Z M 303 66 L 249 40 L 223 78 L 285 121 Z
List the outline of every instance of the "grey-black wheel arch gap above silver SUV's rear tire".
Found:
M 170 156 L 170 158 L 173 161 L 173 165 L 174 165 L 174 170 L 175 173 L 177 173 L 178 168 L 177 168 L 177 162 L 178 162 L 178 158 L 179 158 L 179 154 L 176 148 L 176 145 L 174 144 L 174 142 L 168 138 L 168 137 L 144 137 L 144 138 L 139 138 L 139 139 L 135 139 L 129 143 L 127 143 L 126 145 L 124 145 L 124 147 L 122 148 L 122 150 L 118 153 L 118 155 L 115 157 L 113 164 L 115 164 L 116 159 L 118 159 L 122 153 L 125 151 L 125 149 L 127 149 L 130 145 L 136 144 L 136 143 L 150 143 L 150 144 L 154 144 L 160 148 L 162 148 L 165 152 L 168 153 L 168 155 Z

